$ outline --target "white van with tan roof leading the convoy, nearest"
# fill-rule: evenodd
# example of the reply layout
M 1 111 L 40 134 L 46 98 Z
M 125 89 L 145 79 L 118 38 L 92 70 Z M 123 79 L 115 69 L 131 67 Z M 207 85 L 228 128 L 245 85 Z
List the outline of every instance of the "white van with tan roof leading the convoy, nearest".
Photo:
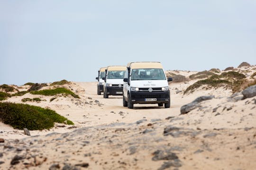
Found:
M 170 108 L 170 91 L 160 62 L 128 63 L 124 78 L 123 106 L 133 109 L 133 104 L 154 104 Z

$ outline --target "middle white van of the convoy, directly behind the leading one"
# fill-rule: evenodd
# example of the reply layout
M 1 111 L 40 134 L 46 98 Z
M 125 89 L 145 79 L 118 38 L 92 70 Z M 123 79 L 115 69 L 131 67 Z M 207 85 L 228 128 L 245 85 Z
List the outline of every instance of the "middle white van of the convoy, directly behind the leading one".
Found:
M 125 66 L 109 66 L 106 69 L 103 97 L 109 98 L 109 95 L 123 95 L 123 79 L 125 75 Z

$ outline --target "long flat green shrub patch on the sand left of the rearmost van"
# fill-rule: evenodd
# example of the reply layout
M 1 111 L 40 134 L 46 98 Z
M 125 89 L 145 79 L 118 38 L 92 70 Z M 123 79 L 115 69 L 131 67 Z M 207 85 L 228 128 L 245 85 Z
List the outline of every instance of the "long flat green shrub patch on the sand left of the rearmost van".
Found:
M 55 88 L 55 89 L 49 89 L 49 90 L 40 90 L 40 91 L 32 91 L 30 92 L 31 94 L 39 94 L 39 95 L 56 95 L 56 94 L 70 94 L 74 98 L 79 98 L 78 95 L 75 93 L 71 92 L 68 89 L 65 89 L 63 87 Z

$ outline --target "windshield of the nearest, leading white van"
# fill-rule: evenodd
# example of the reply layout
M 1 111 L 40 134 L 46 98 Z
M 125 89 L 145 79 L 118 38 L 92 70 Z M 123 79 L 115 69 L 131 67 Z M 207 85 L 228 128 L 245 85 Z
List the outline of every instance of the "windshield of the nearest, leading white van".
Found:
M 133 69 L 131 80 L 165 80 L 162 68 Z

